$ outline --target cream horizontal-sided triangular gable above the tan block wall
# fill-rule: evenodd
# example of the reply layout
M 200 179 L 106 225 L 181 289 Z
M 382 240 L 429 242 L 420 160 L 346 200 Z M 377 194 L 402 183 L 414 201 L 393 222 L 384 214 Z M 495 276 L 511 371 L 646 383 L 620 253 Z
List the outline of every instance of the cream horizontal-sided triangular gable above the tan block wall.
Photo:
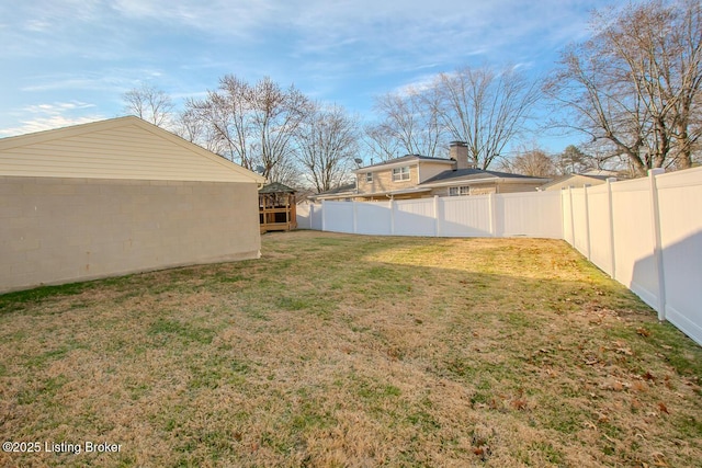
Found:
M 265 182 L 134 116 L 2 138 L 0 175 Z

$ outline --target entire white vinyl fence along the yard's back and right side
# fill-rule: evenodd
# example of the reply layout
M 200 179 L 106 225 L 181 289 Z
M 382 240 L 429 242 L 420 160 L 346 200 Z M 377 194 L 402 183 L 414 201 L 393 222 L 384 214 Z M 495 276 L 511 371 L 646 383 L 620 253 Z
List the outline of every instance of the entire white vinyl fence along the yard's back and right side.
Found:
M 702 345 L 702 168 L 585 189 L 301 205 L 299 228 L 565 239 Z

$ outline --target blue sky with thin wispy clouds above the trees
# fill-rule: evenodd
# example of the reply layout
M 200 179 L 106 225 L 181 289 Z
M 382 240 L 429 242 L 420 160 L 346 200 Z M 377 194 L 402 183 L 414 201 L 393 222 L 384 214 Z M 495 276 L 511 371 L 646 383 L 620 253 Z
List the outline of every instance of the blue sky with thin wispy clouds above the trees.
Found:
M 541 76 L 612 3 L 0 0 L 0 137 L 123 115 L 122 95 L 144 82 L 180 104 L 226 73 L 294 83 L 370 119 L 374 95 L 460 66 Z

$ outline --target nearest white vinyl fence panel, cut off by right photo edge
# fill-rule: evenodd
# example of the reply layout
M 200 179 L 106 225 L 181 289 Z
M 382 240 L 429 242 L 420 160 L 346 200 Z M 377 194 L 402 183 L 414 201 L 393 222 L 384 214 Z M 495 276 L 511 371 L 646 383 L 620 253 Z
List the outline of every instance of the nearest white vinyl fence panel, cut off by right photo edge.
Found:
M 656 186 L 665 318 L 702 344 L 702 168 L 658 175 Z

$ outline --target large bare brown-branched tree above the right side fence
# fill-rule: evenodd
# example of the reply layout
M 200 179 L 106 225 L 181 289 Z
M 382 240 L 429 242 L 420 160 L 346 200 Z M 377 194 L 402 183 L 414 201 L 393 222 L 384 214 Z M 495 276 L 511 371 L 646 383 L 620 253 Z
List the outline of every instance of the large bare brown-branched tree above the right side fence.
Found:
M 699 1 L 596 12 L 593 37 L 567 48 L 545 91 L 571 111 L 557 125 L 607 141 L 637 174 L 688 168 L 702 135 Z

